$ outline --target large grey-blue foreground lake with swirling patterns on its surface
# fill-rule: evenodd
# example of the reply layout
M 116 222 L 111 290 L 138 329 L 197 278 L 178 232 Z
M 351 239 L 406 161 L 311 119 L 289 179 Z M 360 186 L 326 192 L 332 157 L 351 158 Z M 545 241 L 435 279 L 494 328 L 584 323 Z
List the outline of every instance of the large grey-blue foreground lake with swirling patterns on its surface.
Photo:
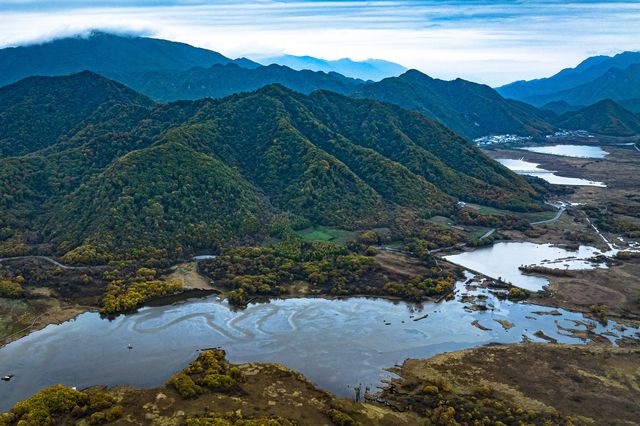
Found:
M 463 293 L 486 296 L 486 311 L 463 303 Z M 582 314 L 557 315 L 526 303 L 500 301 L 486 289 L 457 284 L 450 302 L 415 305 L 385 299 L 280 299 L 233 311 L 215 297 L 170 306 L 146 307 L 113 321 L 85 313 L 0 349 L 0 411 L 45 386 L 62 383 L 79 389 L 98 385 L 153 387 L 188 365 L 198 349 L 223 347 L 230 361 L 280 362 L 305 374 L 323 389 L 352 396 L 361 383 L 375 390 L 389 378 L 386 368 L 406 358 L 489 343 L 516 343 L 538 330 L 564 343 L 583 343 L 564 328 L 586 330 Z M 420 319 L 427 315 L 426 318 Z M 471 323 L 490 330 L 480 330 Z M 505 329 L 495 320 L 507 320 Z M 606 337 L 634 336 L 639 329 L 598 324 Z M 131 344 L 133 349 L 128 349 Z

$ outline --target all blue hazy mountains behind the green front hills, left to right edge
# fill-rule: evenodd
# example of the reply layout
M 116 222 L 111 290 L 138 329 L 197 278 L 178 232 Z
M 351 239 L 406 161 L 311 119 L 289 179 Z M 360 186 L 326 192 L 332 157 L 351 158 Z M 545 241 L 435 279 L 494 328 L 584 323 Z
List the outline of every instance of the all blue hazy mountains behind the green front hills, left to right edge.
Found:
M 297 67 L 307 64 L 364 69 L 365 63 L 323 61 L 310 57 L 287 57 Z M 558 116 L 577 111 L 602 99 L 614 99 L 635 110 L 634 99 L 640 65 L 632 62 L 637 55 L 621 54 L 613 58 L 597 57 L 584 61 L 575 69 L 564 70 L 549 79 L 517 82 L 498 90 L 504 94 L 526 94 L 535 99 L 538 109 L 526 102 L 505 99 L 489 86 L 461 79 L 434 79 L 416 70 L 377 82 L 346 77 L 338 72 L 295 70 L 283 65 L 262 66 L 246 58 L 230 59 L 217 52 L 183 43 L 145 37 L 129 37 L 101 32 L 87 37 L 70 37 L 40 45 L 0 49 L 0 82 L 17 81 L 32 75 L 64 75 L 91 70 L 119 81 L 160 102 L 222 98 L 235 93 L 257 90 L 268 84 L 281 84 L 303 94 L 330 90 L 339 94 L 381 100 L 420 112 L 467 138 L 488 134 L 518 134 L 540 138 L 553 132 L 561 123 L 580 120 Z M 367 62 L 365 68 L 384 65 L 387 71 L 401 68 L 388 63 Z M 324 65 L 323 65 L 324 64 Z M 607 68 L 631 64 L 625 70 Z M 381 66 L 380 69 L 384 68 Z M 390 68 L 389 68 L 390 67 Z M 326 67 L 325 67 L 326 68 Z M 370 67 L 368 68 L 370 69 Z M 598 73 L 602 73 L 597 77 Z M 594 79 L 577 85 L 578 82 Z M 572 86 L 573 85 L 573 86 Z M 536 90 L 562 92 L 535 95 Z M 568 89 L 566 89 L 569 87 Z M 544 96 L 544 99 L 540 96 Z M 620 100 L 628 96 L 628 99 Z M 638 95 L 640 98 L 640 95 Z M 549 100 L 550 102 L 544 102 Z M 608 114 L 598 120 L 629 122 L 629 116 L 614 117 L 618 108 L 597 109 Z M 626 126 L 598 126 L 600 129 L 627 129 Z M 615 135 L 620 135 L 614 133 Z M 626 135 L 627 131 L 623 131 Z

